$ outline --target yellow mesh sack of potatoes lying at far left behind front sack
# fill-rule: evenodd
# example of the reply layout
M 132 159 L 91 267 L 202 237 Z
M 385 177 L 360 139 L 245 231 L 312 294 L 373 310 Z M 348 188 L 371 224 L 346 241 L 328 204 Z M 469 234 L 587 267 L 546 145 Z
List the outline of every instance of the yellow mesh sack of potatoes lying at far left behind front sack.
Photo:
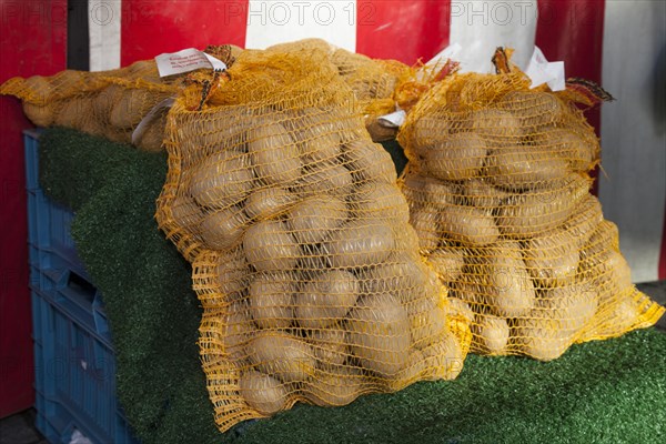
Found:
M 209 47 L 213 56 L 221 48 Z M 231 47 L 229 47 L 231 48 Z M 231 57 L 240 49 L 231 48 Z M 218 54 L 219 56 L 219 54 Z M 117 142 L 131 143 L 143 118 L 164 99 L 175 95 L 186 74 L 160 78 L 154 60 L 142 60 L 118 70 L 65 70 L 52 77 L 13 78 L 0 94 L 22 100 L 23 112 L 38 127 L 67 127 Z M 135 144 L 160 151 L 167 110 L 157 112 L 135 135 Z

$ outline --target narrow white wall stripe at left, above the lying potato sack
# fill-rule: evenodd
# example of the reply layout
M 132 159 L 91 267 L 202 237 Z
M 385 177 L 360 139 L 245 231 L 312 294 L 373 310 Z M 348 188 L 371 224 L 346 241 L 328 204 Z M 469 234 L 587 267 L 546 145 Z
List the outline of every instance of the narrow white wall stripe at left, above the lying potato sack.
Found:
M 121 0 L 89 0 L 90 70 L 120 68 Z

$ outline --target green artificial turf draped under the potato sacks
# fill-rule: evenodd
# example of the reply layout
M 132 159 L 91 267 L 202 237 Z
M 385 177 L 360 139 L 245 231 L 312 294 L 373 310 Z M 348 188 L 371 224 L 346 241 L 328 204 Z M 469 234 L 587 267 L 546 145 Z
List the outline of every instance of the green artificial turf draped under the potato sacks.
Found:
M 551 363 L 468 356 L 453 382 L 346 407 L 296 405 L 220 434 L 199 362 L 190 265 L 153 220 L 165 155 L 52 129 L 40 162 L 47 193 L 77 211 L 72 235 L 104 295 L 118 394 L 145 444 L 666 442 L 666 334 L 654 329 L 576 345 Z

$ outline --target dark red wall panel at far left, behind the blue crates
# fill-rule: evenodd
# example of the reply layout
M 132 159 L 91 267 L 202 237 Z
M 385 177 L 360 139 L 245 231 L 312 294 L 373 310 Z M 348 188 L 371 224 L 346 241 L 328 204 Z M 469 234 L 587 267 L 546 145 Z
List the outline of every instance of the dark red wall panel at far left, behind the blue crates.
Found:
M 0 0 L 0 83 L 65 68 L 67 1 Z M 0 97 L 0 417 L 33 403 L 20 103 Z

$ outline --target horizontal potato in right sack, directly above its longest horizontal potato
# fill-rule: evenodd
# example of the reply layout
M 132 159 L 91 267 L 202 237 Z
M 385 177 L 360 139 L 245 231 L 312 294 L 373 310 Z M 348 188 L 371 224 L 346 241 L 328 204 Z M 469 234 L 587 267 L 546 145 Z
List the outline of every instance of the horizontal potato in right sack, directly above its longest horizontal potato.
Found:
M 567 175 L 566 162 L 556 154 L 534 147 L 506 147 L 491 150 L 485 161 L 485 175 L 505 190 L 528 190 L 539 182 Z

